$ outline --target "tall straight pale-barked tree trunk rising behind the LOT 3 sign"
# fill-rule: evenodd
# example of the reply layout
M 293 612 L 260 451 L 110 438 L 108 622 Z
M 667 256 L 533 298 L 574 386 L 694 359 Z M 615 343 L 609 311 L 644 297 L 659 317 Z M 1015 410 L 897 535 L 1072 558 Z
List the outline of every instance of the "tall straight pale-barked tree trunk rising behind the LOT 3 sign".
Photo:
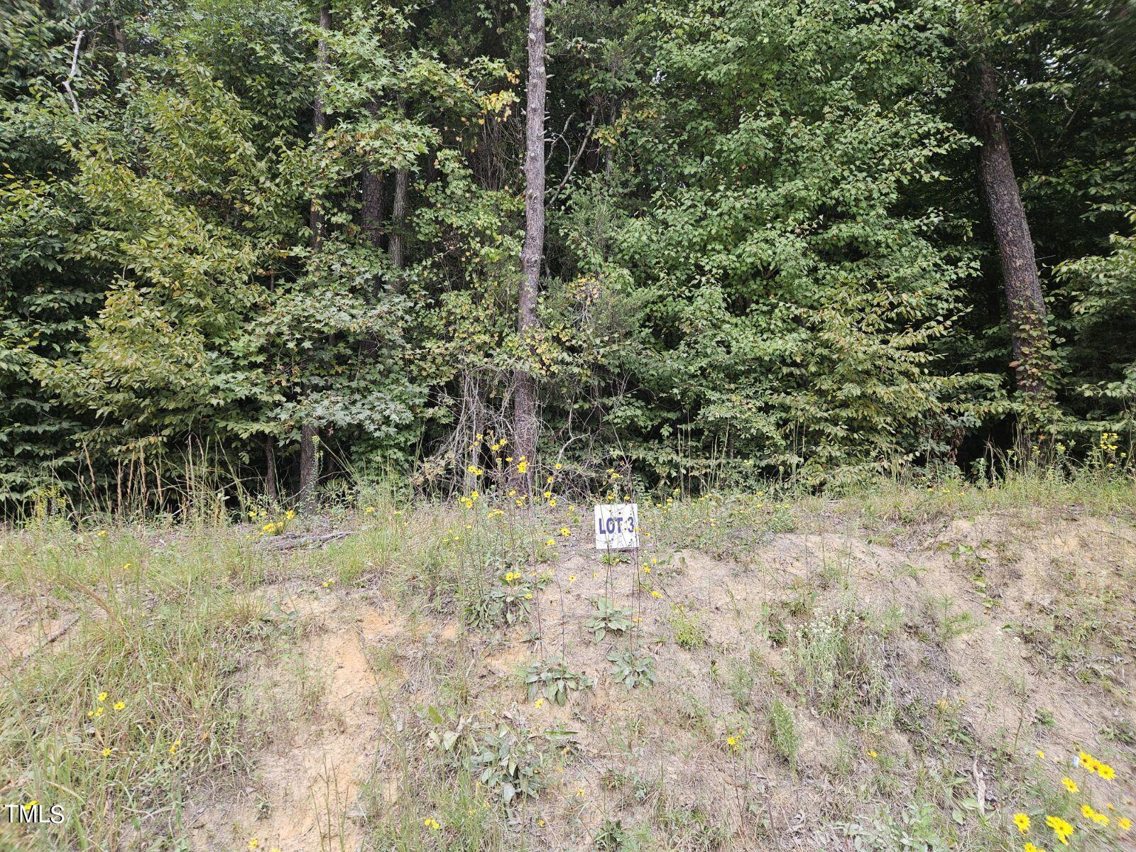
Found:
M 517 331 L 524 341 L 540 326 L 536 304 L 544 254 L 544 0 L 528 7 L 528 92 L 525 114 L 525 247 L 520 252 L 520 292 L 517 299 Z M 515 487 L 532 484 L 536 457 L 536 376 L 528 366 L 513 373 L 513 457 L 526 460 L 529 469 L 513 474 Z

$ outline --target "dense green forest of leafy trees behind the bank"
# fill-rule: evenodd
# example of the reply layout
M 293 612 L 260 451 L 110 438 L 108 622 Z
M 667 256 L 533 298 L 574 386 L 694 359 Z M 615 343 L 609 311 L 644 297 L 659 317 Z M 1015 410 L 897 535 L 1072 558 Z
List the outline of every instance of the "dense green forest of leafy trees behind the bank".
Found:
M 3 0 L 0 92 L 6 511 L 1131 467 L 1131 0 Z

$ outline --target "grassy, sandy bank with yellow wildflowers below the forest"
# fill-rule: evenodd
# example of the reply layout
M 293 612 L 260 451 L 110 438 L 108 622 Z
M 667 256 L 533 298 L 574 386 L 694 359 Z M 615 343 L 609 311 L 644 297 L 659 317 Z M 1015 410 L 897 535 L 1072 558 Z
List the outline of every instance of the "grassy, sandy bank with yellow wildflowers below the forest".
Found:
M 638 502 L 618 560 L 567 495 L 44 510 L 0 536 L 0 802 L 65 818 L 0 842 L 1136 846 L 1131 483 Z

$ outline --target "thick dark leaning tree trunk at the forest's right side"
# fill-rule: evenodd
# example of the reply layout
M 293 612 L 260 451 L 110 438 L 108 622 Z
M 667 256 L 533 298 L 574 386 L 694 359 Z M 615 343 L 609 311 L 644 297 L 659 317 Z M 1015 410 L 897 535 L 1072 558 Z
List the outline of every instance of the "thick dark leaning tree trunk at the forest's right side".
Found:
M 975 76 L 971 106 L 975 128 L 983 143 L 978 173 L 1002 264 L 1018 390 L 1042 401 L 1050 396 L 1046 378 L 1053 366 L 1049 360 L 1045 296 L 1037 278 L 1034 241 L 1029 235 L 1026 209 L 1021 206 L 1018 178 L 1010 159 L 1010 144 L 997 108 L 994 69 L 979 61 Z

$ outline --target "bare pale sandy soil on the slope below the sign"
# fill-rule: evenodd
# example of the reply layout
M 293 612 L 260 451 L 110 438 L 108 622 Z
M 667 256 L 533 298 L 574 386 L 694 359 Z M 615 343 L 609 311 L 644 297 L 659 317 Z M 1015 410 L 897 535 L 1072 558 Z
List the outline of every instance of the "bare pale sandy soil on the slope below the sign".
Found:
M 294 613 L 296 638 L 242 661 L 251 769 L 195 785 L 192 847 L 383 847 L 371 845 L 376 824 L 409 812 L 414 786 L 436 780 L 416 777 L 437 766 L 415 752 L 426 747 L 424 710 L 456 680 L 471 718 L 571 732 L 571 759 L 548 767 L 545 788 L 511 812 L 504 847 L 527 837 L 532 849 L 590 849 L 618 821 L 645 827 L 659 849 L 843 849 L 840 826 L 874 808 L 902 811 L 932 775 L 947 802 L 1004 815 L 1025 808 L 1016 767 L 1043 753 L 1031 783 L 1056 783 L 1080 750 L 1116 768 L 1092 792 L 1133 810 L 1129 523 L 1070 511 L 824 527 L 727 558 L 676 551 L 649 576 L 627 563 L 609 575 L 594 552 L 567 549 L 545 566 L 552 579 L 531 620 L 498 630 L 399 605 L 382 573 L 353 590 L 262 587 Z M 636 638 L 596 642 L 584 628 L 604 594 L 642 618 Z M 695 625 L 685 648 L 676 607 Z M 9 653 L 58 628 L 10 608 L 3 617 Z M 801 642 L 821 623 L 862 636 L 854 653 L 867 654 L 837 663 L 851 686 L 837 708 L 826 703 L 832 684 L 801 679 Z M 653 657 L 654 688 L 613 682 L 613 644 Z M 537 705 L 524 668 L 561 655 L 594 687 Z M 767 722 L 775 700 L 799 738 L 790 755 Z M 426 842 L 445 847 L 441 834 Z

